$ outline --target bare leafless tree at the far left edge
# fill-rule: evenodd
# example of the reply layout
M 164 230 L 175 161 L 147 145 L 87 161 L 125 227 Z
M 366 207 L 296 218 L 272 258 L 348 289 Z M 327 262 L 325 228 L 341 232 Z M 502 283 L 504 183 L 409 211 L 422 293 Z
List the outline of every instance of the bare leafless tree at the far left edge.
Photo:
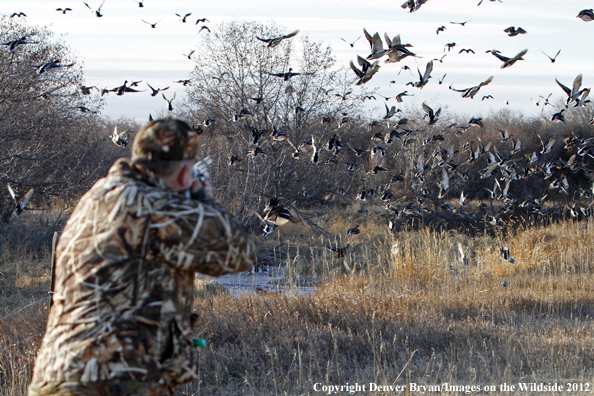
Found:
M 100 96 L 83 93 L 82 67 L 49 30 L 4 18 L 0 32 L 0 196 L 10 183 L 33 187 L 33 202 L 77 197 L 103 161 Z

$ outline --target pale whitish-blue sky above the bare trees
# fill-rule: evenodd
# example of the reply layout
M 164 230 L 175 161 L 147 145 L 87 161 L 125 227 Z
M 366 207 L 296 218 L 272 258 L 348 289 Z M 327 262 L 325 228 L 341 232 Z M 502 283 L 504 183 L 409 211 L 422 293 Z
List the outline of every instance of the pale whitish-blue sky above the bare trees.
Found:
M 410 48 L 419 58 L 406 58 L 395 64 L 386 64 L 380 60 L 381 69 L 367 83 L 368 88 L 379 87 L 384 96 L 394 96 L 407 90 L 415 96 L 405 98 L 409 106 L 420 108 L 426 101 L 437 108 L 447 106 L 448 111 L 469 116 L 487 116 L 490 111 L 501 108 L 516 109 L 526 116 L 539 116 L 542 106 L 537 107 L 532 99 L 539 95 L 548 96 L 557 103 L 566 98 L 555 83 L 555 77 L 571 87 L 574 78 L 583 74 L 583 87 L 594 85 L 594 22 L 584 22 L 576 18 L 577 14 L 594 3 L 587 0 L 502 0 L 492 2 L 484 0 L 477 6 L 478 0 L 429 0 L 418 11 L 409 13 L 400 7 L 404 0 L 391 1 L 352 1 L 331 0 L 299 2 L 280 2 L 278 0 L 196 2 L 194 0 L 146 0 L 139 8 L 134 0 L 105 0 L 101 9 L 104 15 L 97 18 L 82 1 L 72 0 L 19 0 L 0 3 L 0 14 L 25 12 L 27 22 L 33 25 L 49 26 L 57 35 L 63 35 L 79 63 L 84 66 L 86 85 L 113 88 L 124 80 L 143 80 L 153 87 L 171 86 L 165 92 L 171 97 L 174 90 L 177 98 L 183 94 L 180 84 L 173 81 L 189 78 L 193 62 L 184 57 L 197 48 L 199 27 L 196 19 L 208 18 L 206 23 L 211 28 L 234 18 L 257 20 L 263 23 L 273 21 L 284 27 L 286 32 L 300 30 L 294 37 L 307 35 L 310 40 L 331 45 L 337 58 L 336 68 L 348 67 L 349 61 L 356 62 L 357 55 L 366 57 L 369 45 L 361 37 L 351 48 L 340 38 L 354 41 L 363 34 L 363 28 L 373 35 L 379 32 L 390 37 L 400 34 L 403 43 L 413 45 Z M 87 3 L 97 8 L 100 0 Z M 56 8 L 70 7 L 73 11 L 63 15 Z M 188 23 L 182 23 L 175 15 L 191 12 Z M 155 29 L 141 19 L 156 22 Z M 450 22 L 464 22 L 466 26 Z M 436 34 L 439 26 L 447 30 Z M 528 33 L 508 37 L 503 29 L 522 27 Z M 200 33 L 208 34 L 206 31 Z M 422 90 L 406 86 L 409 81 L 418 80 L 417 64 L 421 71 L 433 58 L 441 58 L 446 43 L 456 43 L 443 63 L 434 62 L 432 79 Z M 265 44 L 263 44 L 265 45 Z M 476 54 L 459 54 L 462 48 L 473 49 Z M 502 62 L 485 53 L 497 49 L 507 57 L 513 57 L 523 49 L 528 49 L 523 61 L 510 68 L 501 69 Z M 561 53 L 555 63 L 543 54 L 554 56 Z M 408 71 L 398 72 L 408 65 L 414 76 Z M 442 85 L 438 80 L 446 74 Z M 354 75 L 354 74 L 353 74 Z M 475 99 L 463 99 L 460 93 L 451 91 L 452 84 L 457 89 L 468 88 L 494 76 L 493 82 L 483 87 Z M 396 84 L 389 84 L 395 80 Z M 358 88 L 356 88 L 358 89 Z M 151 97 L 150 92 L 107 96 L 102 114 L 112 118 L 121 116 L 148 119 L 148 114 L 163 114 L 167 103 L 158 95 Z M 494 99 L 482 101 L 484 95 Z M 594 94 L 593 94 L 594 95 Z M 509 105 L 506 105 L 506 102 Z M 381 117 L 385 101 L 378 96 L 377 103 L 367 102 L 369 118 Z M 388 105 L 397 105 L 394 100 Z M 175 102 L 174 102 L 175 104 Z M 592 104 L 589 104 L 592 109 Z M 592 110 L 594 112 L 594 110 Z M 547 106 L 546 113 L 552 112 Z

